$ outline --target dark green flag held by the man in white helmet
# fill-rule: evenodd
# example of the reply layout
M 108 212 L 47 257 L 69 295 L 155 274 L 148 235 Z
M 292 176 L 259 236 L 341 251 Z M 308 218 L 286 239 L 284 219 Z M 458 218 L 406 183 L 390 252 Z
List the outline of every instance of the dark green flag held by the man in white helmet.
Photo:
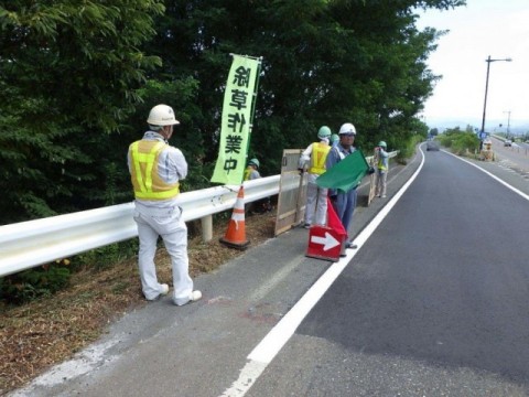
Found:
M 339 193 L 347 193 L 356 187 L 369 170 L 369 164 L 361 150 L 355 150 L 344 160 L 336 163 L 331 170 L 316 179 L 320 187 L 337 189 Z

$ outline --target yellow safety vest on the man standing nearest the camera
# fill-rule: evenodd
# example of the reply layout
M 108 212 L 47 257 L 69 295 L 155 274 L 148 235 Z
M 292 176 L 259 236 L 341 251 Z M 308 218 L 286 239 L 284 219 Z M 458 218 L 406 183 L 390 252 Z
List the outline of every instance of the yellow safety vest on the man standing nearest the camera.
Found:
M 158 160 L 164 142 L 140 140 L 130 144 L 131 181 L 136 198 L 168 200 L 180 193 L 180 183 L 166 183 L 158 174 Z

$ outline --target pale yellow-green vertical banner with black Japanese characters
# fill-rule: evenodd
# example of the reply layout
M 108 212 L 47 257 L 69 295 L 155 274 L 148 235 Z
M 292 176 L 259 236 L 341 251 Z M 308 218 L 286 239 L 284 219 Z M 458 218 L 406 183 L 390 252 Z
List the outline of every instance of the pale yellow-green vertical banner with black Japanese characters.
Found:
M 260 63 L 259 58 L 234 55 L 224 94 L 218 158 L 212 182 L 242 182 Z

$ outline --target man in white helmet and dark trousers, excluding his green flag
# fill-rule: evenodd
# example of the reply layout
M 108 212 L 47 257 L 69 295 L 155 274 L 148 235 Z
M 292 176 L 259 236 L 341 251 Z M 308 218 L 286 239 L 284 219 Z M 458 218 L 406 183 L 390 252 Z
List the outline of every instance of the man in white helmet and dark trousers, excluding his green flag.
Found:
M 344 160 L 347 155 L 352 154 L 356 149 L 353 146 L 355 143 L 356 128 L 350 122 L 342 125 L 339 128 L 339 142 L 336 147 L 333 147 L 327 154 L 325 167 L 327 170 L 332 169 L 335 164 Z M 356 187 L 352 189 L 347 193 L 339 193 L 336 189 L 328 190 L 328 196 L 333 203 L 333 207 L 336 211 L 336 215 L 344 225 L 345 230 L 348 233 L 349 224 L 353 221 L 353 213 L 356 207 Z M 346 248 L 357 248 L 353 242 L 348 238 Z

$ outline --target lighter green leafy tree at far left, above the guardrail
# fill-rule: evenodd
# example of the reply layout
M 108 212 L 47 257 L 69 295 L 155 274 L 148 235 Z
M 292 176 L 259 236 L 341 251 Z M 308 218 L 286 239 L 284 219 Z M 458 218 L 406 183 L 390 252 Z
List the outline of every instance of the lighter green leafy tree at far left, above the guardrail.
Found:
M 161 1 L 0 2 L 0 223 L 100 205 Z M 112 182 L 110 181 L 110 185 Z M 98 194 L 95 194 L 97 192 Z

